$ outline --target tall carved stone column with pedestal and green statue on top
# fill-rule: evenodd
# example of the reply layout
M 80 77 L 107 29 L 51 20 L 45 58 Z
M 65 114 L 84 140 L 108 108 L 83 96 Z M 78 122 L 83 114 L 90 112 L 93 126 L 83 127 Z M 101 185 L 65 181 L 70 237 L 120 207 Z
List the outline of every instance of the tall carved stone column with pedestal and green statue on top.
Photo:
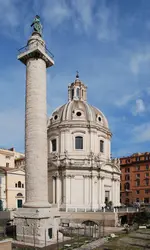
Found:
M 15 214 L 17 240 L 42 245 L 57 235 L 59 214 L 48 202 L 46 68 L 54 65 L 42 38 L 40 17 L 18 60 L 26 65 L 26 202 Z

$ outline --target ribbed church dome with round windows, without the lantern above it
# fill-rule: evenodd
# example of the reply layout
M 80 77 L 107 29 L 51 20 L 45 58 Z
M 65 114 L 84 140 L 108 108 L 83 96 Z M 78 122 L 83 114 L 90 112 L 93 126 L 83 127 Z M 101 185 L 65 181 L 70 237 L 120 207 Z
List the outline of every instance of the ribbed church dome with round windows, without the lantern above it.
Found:
M 89 105 L 86 101 L 72 100 L 58 107 L 52 114 L 51 124 L 62 121 L 87 121 L 109 128 L 104 114 L 97 108 Z

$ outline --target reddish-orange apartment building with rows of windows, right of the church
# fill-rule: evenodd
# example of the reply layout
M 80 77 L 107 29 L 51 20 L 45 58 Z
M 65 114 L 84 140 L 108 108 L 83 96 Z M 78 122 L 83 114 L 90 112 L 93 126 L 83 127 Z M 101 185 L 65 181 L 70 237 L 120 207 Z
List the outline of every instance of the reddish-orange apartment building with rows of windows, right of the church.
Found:
M 150 152 L 120 158 L 123 204 L 150 203 Z

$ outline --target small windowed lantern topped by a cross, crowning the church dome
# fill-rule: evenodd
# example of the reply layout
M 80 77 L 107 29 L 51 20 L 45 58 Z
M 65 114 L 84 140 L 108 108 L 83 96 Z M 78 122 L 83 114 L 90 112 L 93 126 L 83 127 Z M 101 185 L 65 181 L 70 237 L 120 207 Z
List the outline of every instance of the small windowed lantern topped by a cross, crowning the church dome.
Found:
M 76 79 L 68 86 L 68 100 L 86 101 L 87 87 L 79 79 L 79 72 L 76 71 Z

